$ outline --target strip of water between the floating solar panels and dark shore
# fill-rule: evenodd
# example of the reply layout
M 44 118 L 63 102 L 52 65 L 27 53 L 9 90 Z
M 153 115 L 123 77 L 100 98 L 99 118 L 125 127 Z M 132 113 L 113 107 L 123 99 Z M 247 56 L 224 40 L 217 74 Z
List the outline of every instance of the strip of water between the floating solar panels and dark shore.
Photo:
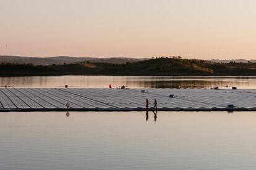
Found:
M 4 87 L 86 87 L 114 88 L 126 85 L 129 88 L 231 88 L 256 89 L 256 77 L 172 77 L 172 76 L 23 76 L 0 77 Z

